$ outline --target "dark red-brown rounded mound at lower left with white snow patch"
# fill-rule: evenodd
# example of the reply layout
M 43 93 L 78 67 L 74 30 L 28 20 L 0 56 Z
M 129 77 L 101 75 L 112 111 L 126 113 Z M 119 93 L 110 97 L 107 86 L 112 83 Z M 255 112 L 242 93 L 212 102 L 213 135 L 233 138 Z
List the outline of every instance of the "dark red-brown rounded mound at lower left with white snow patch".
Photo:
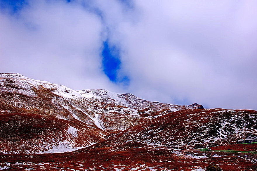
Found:
M 2 113 L 0 120 L 0 151 L 7 154 L 74 151 L 103 140 L 95 128 L 53 117 Z

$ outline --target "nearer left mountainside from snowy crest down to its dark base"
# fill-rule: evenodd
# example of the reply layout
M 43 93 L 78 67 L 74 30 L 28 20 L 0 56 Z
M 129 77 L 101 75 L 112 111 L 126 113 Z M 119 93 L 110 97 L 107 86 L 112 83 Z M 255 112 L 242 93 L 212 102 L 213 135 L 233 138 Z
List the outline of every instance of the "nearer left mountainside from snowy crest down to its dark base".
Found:
M 12 134 L 3 131 L 5 138 L 0 138 L 0 151 L 45 153 L 61 147 L 71 151 L 102 141 L 108 133 L 95 125 L 92 112 L 85 112 L 90 103 L 77 91 L 62 85 L 32 80 L 20 74 L 0 74 L 0 117 L 10 117 L 1 120 L 0 129 L 17 130 Z M 23 123 L 22 118 L 27 123 Z M 49 121 L 51 126 L 46 134 L 45 121 L 50 119 L 53 122 Z M 57 121 L 70 128 L 58 126 Z M 33 137 L 29 134 L 31 131 L 34 131 Z

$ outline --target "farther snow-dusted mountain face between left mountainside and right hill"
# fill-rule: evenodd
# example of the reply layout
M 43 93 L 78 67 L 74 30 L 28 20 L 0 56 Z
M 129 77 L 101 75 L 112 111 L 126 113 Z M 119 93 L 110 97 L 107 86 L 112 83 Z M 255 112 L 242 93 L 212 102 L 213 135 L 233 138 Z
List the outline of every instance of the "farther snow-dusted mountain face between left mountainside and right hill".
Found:
M 133 94 L 119 94 L 103 89 L 78 91 L 95 104 L 90 110 L 97 114 L 105 130 L 123 131 L 138 123 L 146 122 L 177 110 L 203 108 L 197 103 L 190 106 L 151 102 Z

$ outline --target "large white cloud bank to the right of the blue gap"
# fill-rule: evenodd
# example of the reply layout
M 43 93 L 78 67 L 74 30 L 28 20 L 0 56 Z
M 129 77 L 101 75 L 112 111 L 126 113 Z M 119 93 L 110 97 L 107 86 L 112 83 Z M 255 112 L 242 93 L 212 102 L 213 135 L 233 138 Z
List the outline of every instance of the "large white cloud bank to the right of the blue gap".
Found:
M 131 92 L 256 109 L 256 1 L 135 1 L 133 10 L 138 20 L 121 13 L 109 23 Z

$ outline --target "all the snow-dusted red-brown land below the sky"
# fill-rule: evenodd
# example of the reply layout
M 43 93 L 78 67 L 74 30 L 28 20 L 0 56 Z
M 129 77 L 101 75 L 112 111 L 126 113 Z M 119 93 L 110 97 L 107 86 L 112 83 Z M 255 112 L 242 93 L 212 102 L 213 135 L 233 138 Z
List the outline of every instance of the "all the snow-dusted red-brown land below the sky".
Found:
M 257 170 L 257 154 L 199 149 L 257 151 L 236 144 L 257 138 L 256 123 L 255 110 L 151 102 L 0 74 L 0 170 Z

